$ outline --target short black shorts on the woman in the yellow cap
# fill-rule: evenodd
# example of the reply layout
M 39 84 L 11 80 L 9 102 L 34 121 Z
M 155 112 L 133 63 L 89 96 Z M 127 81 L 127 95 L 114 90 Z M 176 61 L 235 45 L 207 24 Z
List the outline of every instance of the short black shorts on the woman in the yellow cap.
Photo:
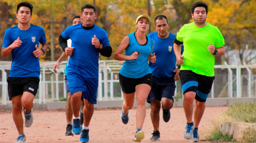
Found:
M 126 94 L 134 93 L 135 87 L 139 84 L 148 84 L 150 87 L 152 86 L 152 73 L 148 73 L 147 75 L 138 79 L 128 78 L 119 73 L 119 82 L 122 92 Z

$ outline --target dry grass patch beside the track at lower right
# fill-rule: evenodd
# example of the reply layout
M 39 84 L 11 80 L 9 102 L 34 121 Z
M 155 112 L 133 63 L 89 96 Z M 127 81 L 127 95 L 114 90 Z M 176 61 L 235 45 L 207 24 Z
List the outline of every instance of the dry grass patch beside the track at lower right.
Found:
M 256 104 L 236 102 L 230 105 L 225 112 L 221 112 L 212 118 L 214 129 L 205 139 L 213 142 L 256 143 Z M 241 140 L 234 140 L 232 135 L 222 135 L 220 129 L 222 123 L 236 123 L 251 126 L 244 130 Z

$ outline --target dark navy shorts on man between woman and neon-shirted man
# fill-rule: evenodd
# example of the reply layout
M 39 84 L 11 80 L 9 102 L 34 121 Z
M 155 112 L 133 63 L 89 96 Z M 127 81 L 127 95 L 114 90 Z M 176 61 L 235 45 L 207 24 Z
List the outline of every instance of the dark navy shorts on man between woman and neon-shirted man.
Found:
M 147 98 L 147 102 L 150 103 L 152 100 L 159 100 L 164 98 L 171 99 L 174 102 L 175 94 L 175 81 L 174 77 L 169 78 L 157 78 L 153 76 L 153 83 L 150 93 Z

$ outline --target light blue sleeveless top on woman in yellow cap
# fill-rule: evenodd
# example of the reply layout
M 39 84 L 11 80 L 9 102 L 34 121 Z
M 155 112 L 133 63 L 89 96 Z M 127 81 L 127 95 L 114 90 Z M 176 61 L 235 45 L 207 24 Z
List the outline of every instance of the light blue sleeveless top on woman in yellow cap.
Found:
M 148 37 L 147 43 L 145 45 L 140 45 L 137 42 L 134 34 L 135 33 L 127 35 L 129 37 L 129 44 L 125 49 L 125 55 L 130 56 L 134 52 L 138 52 L 139 56 L 137 60 L 126 60 L 119 73 L 122 76 L 137 79 L 147 75 L 148 73 L 151 73 L 151 70 L 148 66 L 148 56 L 151 53 L 151 48 L 154 44 L 154 41 Z

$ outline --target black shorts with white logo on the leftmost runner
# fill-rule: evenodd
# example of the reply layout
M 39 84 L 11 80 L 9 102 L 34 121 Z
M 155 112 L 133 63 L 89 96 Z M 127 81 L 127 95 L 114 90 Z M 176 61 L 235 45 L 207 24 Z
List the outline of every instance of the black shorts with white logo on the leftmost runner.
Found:
M 38 77 L 8 77 L 9 100 L 27 91 L 34 96 L 37 93 L 40 79 Z

